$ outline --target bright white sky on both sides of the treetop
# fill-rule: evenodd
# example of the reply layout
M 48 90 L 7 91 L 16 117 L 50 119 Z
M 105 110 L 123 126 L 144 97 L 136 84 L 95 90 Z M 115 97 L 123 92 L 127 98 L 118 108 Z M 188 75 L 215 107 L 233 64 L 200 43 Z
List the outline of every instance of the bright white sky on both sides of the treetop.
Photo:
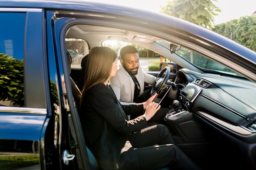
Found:
M 167 4 L 168 0 L 91 0 L 94 2 L 104 2 L 119 4 L 127 7 L 134 7 L 153 12 L 159 12 L 160 7 Z M 256 0 L 218 0 L 213 3 L 222 12 L 214 18 L 215 24 L 225 23 L 240 17 L 250 16 L 256 11 Z

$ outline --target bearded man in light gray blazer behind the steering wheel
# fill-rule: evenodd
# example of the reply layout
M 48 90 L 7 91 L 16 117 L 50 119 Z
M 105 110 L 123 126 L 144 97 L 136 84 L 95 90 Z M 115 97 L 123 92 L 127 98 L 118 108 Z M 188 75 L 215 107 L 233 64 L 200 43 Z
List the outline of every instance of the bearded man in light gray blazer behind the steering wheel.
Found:
M 153 84 L 156 77 L 144 73 L 139 66 L 139 53 L 134 46 L 125 46 L 120 50 L 120 63 L 116 76 L 110 78 L 110 85 L 122 105 L 143 103 L 150 97 L 151 89 L 144 91 L 144 82 Z M 164 123 L 169 108 L 161 108 L 150 120 Z M 131 115 L 131 119 L 137 115 Z

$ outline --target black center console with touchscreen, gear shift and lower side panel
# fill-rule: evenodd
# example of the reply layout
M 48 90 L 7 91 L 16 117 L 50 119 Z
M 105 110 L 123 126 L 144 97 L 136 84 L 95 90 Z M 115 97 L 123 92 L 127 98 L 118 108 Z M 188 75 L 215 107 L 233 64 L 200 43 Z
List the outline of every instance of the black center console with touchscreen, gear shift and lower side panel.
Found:
M 191 106 L 201 91 L 202 88 L 188 83 L 180 90 L 178 99 L 173 100 L 173 108 L 168 111 L 164 118 L 170 132 L 178 136 L 175 139 L 176 144 L 204 141 L 204 135 L 191 112 Z

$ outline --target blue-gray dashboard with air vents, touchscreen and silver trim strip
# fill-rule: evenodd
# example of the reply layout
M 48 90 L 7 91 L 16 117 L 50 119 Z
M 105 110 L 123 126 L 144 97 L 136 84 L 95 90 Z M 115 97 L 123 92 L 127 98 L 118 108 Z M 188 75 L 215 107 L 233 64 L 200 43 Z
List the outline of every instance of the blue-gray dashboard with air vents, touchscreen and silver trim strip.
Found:
M 181 110 L 195 113 L 247 142 L 256 142 L 256 84 L 247 79 L 180 69 Z

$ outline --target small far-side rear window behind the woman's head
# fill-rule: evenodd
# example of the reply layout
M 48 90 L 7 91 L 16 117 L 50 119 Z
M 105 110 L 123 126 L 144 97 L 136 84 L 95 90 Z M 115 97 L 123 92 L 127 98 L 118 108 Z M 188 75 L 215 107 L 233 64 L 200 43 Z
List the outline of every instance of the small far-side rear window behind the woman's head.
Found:
M 77 38 L 65 38 L 65 45 L 72 57 L 71 68 L 81 68 L 83 57 L 89 54 L 89 46 L 85 40 Z

